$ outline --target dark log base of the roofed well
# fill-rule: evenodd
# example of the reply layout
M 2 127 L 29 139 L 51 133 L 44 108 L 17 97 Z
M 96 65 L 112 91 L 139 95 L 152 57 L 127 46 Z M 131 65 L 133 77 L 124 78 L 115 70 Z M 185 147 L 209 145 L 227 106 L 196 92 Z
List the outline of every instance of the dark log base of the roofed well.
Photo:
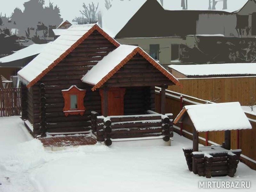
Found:
M 226 175 L 234 177 L 242 150 L 227 150 L 221 146 L 203 146 L 199 147 L 198 152 L 193 152 L 193 148 L 183 148 L 183 152 L 189 171 L 211 178 Z

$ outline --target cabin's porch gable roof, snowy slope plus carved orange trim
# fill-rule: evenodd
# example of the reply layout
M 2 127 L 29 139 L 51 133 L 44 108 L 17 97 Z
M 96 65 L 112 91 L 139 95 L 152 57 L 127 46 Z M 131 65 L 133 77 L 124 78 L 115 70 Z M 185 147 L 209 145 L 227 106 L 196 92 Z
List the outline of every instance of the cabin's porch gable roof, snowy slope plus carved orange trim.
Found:
M 100 88 L 104 83 L 106 83 L 110 77 L 112 77 L 137 53 L 148 60 L 174 84 L 179 84 L 179 81 L 153 58 L 151 58 L 148 53 L 144 52 L 140 47 L 132 45 L 120 45 L 118 48 L 100 60 L 97 65 L 93 66 L 93 68 L 88 71 L 87 74 L 81 78 L 81 80 L 84 83 L 93 85 L 92 91 L 95 91 L 97 88 Z

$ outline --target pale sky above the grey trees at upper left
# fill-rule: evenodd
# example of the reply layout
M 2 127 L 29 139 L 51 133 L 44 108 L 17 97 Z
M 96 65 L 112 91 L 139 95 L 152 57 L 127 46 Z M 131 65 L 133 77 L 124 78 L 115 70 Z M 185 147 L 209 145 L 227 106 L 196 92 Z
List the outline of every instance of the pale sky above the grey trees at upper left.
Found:
M 2 1 L 2 0 L 1 0 Z M 6 13 L 6 16 L 11 16 L 13 10 L 18 7 L 22 11 L 24 10 L 23 3 L 27 2 L 28 0 L 8 0 L 4 1 L 3 4 L 0 6 L 0 12 L 2 14 Z M 75 17 L 82 16 L 79 10 L 82 10 L 83 3 L 89 4 L 91 2 L 93 3 L 100 3 L 101 6 L 104 6 L 104 0 L 50 0 L 54 6 L 57 4 L 58 7 L 60 7 L 60 14 L 63 20 L 72 20 Z M 115 0 L 114 0 L 115 1 Z M 72 4 L 70 4 L 72 2 Z M 45 4 L 49 4 L 49 0 L 45 0 Z M 99 7 L 100 7 L 99 5 Z

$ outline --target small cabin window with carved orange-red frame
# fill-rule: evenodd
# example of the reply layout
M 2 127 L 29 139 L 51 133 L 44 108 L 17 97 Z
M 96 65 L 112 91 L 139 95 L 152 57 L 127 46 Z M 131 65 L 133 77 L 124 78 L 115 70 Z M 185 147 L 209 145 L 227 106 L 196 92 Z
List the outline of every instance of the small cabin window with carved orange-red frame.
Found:
M 86 90 L 79 89 L 76 85 L 72 85 L 69 89 L 62 90 L 64 98 L 63 112 L 68 115 L 84 115 L 84 96 Z

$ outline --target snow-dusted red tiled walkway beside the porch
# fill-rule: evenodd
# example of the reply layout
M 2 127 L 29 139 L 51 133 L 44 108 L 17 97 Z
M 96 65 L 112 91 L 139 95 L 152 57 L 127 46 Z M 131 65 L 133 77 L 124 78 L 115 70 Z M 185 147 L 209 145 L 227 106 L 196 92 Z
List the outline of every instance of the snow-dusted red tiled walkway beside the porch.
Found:
M 50 137 L 39 138 L 44 147 L 66 147 L 78 145 L 94 145 L 97 141 L 93 137 L 88 136 L 66 136 L 66 137 Z

